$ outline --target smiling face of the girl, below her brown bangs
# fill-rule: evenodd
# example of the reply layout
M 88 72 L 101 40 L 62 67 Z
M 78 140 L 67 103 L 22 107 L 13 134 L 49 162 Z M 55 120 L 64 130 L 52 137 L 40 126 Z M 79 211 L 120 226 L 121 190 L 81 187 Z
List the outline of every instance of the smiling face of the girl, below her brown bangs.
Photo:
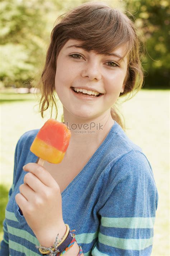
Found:
M 98 117 L 110 110 L 123 92 L 127 72 L 126 47 L 122 46 L 106 55 L 76 48 L 78 40 L 68 40 L 57 58 L 55 87 L 63 108 L 77 118 Z M 74 45 L 74 46 L 73 46 Z M 96 91 L 101 96 L 75 93 L 73 87 Z

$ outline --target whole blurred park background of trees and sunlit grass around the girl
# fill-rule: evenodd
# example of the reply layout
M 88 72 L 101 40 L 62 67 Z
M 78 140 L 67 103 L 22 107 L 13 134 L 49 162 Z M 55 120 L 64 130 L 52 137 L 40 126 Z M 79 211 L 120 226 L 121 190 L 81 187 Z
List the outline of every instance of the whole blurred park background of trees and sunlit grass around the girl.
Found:
M 33 85 L 41 75 L 50 34 L 57 17 L 85 0 L 2 0 L 1 1 L 1 173 L 0 240 L 2 222 L 13 181 L 15 146 L 28 130 L 39 129 L 50 117 L 38 113 Z M 142 65 L 145 82 L 137 95 L 120 104 L 126 133 L 139 145 L 151 163 L 159 204 L 154 227 L 152 256 L 169 255 L 169 2 L 166 0 L 102 1 L 123 6 L 146 45 Z M 131 17 L 130 17 L 131 18 Z M 62 104 L 56 96 L 57 120 Z M 120 100 L 121 103 L 121 100 Z M 53 113 L 55 118 L 55 113 Z

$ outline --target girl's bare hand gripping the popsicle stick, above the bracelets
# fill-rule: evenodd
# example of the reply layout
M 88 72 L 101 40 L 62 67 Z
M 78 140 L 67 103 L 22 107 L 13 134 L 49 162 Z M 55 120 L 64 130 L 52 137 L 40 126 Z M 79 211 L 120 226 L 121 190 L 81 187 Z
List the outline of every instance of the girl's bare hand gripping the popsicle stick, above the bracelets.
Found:
M 66 226 L 62 217 L 62 197 L 60 187 L 51 174 L 37 163 L 28 163 L 23 167 L 28 171 L 24 176 L 24 184 L 20 185 L 20 193 L 15 200 L 23 215 L 43 246 L 55 242 L 57 234 Z M 61 236 L 62 237 L 62 236 Z

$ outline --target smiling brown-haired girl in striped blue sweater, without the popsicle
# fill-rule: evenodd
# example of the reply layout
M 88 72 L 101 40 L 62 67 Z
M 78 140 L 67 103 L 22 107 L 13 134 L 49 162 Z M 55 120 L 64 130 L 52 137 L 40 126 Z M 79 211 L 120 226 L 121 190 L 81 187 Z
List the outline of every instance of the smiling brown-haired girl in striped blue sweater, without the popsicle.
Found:
M 71 140 L 61 163 L 41 167 L 29 151 L 39 130 L 20 137 L 1 255 L 151 255 L 154 175 L 115 110 L 142 82 L 140 41 L 122 11 L 85 3 L 56 24 L 41 114 L 56 104 L 56 91 Z

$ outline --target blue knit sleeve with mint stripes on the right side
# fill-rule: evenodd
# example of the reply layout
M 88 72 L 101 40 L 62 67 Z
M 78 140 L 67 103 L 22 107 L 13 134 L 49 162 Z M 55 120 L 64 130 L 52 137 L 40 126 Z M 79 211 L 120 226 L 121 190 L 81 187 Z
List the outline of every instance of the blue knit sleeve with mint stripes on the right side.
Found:
M 146 156 L 132 150 L 104 174 L 100 227 L 93 256 L 149 256 L 158 192 Z

